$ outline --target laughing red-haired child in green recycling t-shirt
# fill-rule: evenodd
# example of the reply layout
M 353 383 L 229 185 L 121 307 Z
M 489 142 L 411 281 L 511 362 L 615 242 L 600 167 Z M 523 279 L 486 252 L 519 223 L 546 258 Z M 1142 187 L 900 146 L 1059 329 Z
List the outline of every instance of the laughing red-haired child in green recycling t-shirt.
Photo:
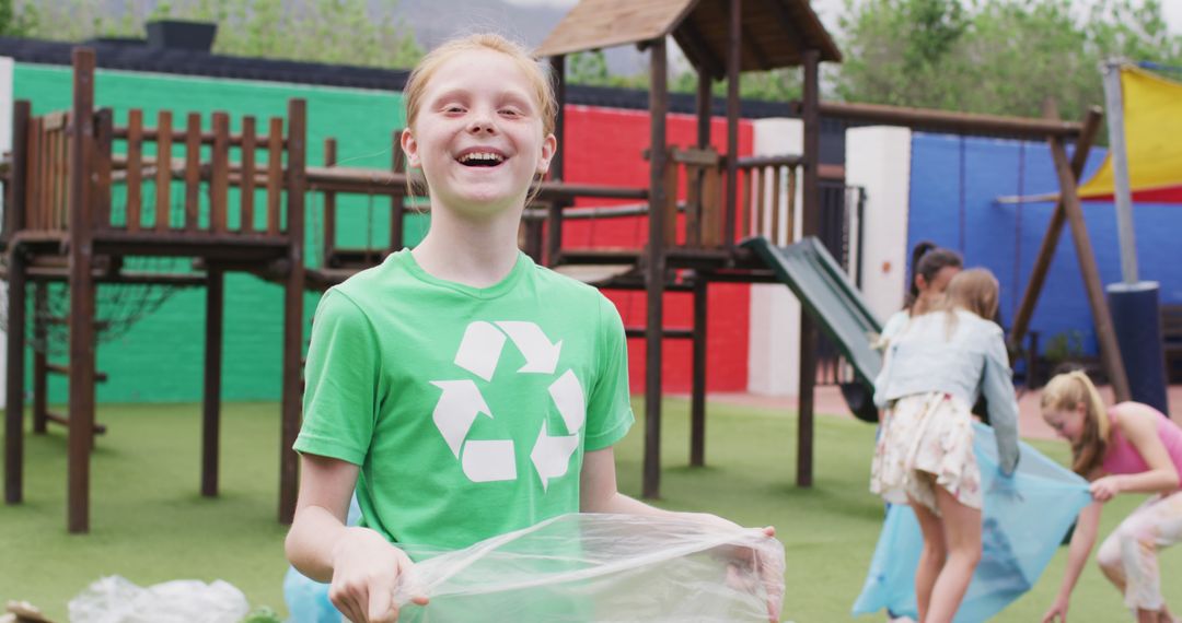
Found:
M 455 550 L 579 511 L 669 513 L 616 490 L 612 445 L 634 419 L 619 314 L 517 247 L 556 149 L 545 66 L 472 35 L 427 54 L 405 98 L 402 149 L 430 230 L 322 299 L 296 441 L 287 557 L 356 623 L 397 619 L 413 565 L 400 545 Z

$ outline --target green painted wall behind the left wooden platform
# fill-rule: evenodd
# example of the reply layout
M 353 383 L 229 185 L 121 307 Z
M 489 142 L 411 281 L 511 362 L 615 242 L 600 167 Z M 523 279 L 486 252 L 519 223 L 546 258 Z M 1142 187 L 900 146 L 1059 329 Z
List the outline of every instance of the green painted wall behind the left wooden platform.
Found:
M 70 90 L 69 67 L 27 64 L 15 66 L 14 98 L 31 100 L 34 114 L 67 109 Z M 230 114 L 232 131 L 240 127 L 240 118 L 247 114 L 255 116 L 260 127 L 265 129 L 267 118 L 286 113 L 287 100 L 291 98 L 307 100 L 310 165 L 323 162 L 324 139 L 331 136 L 337 138 L 338 159 L 343 165 L 389 168 L 391 133 L 404 123 L 401 93 L 118 71 L 99 71 L 96 84 L 97 105 L 111 107 L 116 123 L 124 123 L 128 110 L 137 107 L 144 111 L 148 126 L 156 125 L 157 111 L 171 110 L 174 126 L 183 124 L 186 113 L 200 112 L 208 127 L 210 112 L 226 111 Z M 121 145 L 117 144 L 116 150 L 119 149 Z M 180 156 L 180 151 L 175 156 Z M 144 190 L 148 197 L 151 196 L 149 188 Z M 174 201 L 178 195 L 180 188 L 173 192 Z M 121 211 L 121 196 L 115 197 L 115 212 Z M 306 204 L 306 256 L 309 263 L 316 265 L 323 248 L 320 228 L 324 199 L 310 194 Z M 150 211 L 150 205 L 145 199 L 145 211 Z M 235 205 L 230 209 L 234 210 Z M 421 225 L 417 218 L 414 218 L 414 223 L 408 223 L 408 237 L 420 236 Z M 337 231 L 338 245 L 359 247 L 369 240 L 376 247 L 385 247 L 389 243 L 389 201 L 339 198 Z M 181 263 L 176 268 L 184 270 L 186 265 Z M 134 293 L 128 294 L 135 296 Z M 100 293 L 99 296 L 102 300 L 104 294 Z M 313 293 L 306 295 L 307 317 L 311 317 L 318 299 Z M 249 275 L 229 275 L 226 281 L 222 375 L 222 396 L 226 400 L 278 399 L 281 330 L 282 290 Z M 176 290 L 155 313 L 143 317 L 126 334 L 113 341 L 100 342 L 98 368 L 108 373 L 110 380 L 98 386 L 98 400 L 200 400 L 203 335 L 204 290 Z M 31 380 L 26 386 L 31 386 Z M 50 400 L 65 401 L 65 388 L 63 379 L 51 378 Z

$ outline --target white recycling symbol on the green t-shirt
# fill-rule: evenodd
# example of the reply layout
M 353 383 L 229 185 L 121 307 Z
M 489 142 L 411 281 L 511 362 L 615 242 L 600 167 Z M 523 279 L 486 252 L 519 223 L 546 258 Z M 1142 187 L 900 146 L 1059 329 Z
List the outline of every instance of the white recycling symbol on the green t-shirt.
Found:
M 541 328 L 533 322 L 483 322 L 468 324 L 455 354 L 455 365 L 485 381 L 493 380 L 501 359 L 506 336 L 525 356 L 525 366 L 517 374 L 554 375 L 563 342 L 551 343 Z M 474 483 L 515 480 L 517 452 L 511 439 L 469 440 L 468 431 L 479 415 L 495 419 L 485 396 L 472 379 L 431 381 L 443 392 L 435 404 L 433 419 L 447 441 L 452 454 L 460 460 L 465 476 Z M 530 451 L 543 490 L 550 480 L 566 474 L 571 455 L 578 448 L 579 432 L 586 420 L 583 386 L 574 372 L 567 369 L 550 383 L 550 398 L 566 422 L 566 435 L 552 435 L 541 419 L 541 429 Z

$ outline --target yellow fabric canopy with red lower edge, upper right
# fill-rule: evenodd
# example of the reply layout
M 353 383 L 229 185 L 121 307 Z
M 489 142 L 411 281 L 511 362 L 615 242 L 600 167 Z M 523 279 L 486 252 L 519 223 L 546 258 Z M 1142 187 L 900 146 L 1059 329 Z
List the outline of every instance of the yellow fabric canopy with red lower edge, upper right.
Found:
M 1182 203 L 1182 84 L 1125 65 L 1121 91 L 1134 201 Z M 1079 197 L 1111 199 L 1113 189 L 1109 156 L 1079 188 Z

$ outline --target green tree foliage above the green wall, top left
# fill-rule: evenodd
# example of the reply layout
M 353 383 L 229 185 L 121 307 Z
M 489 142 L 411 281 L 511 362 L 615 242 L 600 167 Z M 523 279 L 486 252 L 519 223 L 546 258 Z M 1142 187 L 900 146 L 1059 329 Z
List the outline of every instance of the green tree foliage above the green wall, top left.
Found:
M 0 20 L 4 2 L 0 0 Z M 348 65 L 409 67 L 423 50 L 394 18 L 395 0 L 160 0 L 123 4 L 112 14 L 99 0 L 22 2 L 22 37 L 83 41 L 96 37 L 144 37 L 154 19 L 217 24 L 214 52 Z M 2 25 L 2 24 L 0 24 Z

